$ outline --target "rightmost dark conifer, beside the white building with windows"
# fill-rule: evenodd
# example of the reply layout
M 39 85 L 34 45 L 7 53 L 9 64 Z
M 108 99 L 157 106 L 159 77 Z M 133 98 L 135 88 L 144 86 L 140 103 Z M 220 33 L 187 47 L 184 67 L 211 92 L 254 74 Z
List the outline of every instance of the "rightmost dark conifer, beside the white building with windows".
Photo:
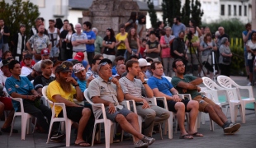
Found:
M 200 26 L 201 16 L 203 15 L 203 11 L 201 10 L 201 3 L 198 0 L 192 0 L 191 8 L 192 19 L 197 22 L 197 26 Z

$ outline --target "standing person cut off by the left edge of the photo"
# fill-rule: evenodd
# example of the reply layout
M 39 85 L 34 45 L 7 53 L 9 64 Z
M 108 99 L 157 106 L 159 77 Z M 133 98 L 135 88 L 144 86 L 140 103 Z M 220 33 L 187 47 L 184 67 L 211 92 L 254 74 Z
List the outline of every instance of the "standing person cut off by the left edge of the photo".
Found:
M 4 25 L 4 21 L 1 18 L 0 18 L 0 27 L 1 27 L 1 34 L 3 39 L 2 53 L 4 53 L 5 51 L 9 50 L 8 38 L 10 36 L 10 30 L 6 25 Z

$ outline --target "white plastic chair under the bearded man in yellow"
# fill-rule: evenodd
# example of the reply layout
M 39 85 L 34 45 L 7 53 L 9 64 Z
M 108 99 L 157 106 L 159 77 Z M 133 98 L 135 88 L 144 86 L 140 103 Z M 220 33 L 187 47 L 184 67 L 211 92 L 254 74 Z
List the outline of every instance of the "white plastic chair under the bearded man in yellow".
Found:
M 65 106 L 64 103 L 53 103 L 52 101 L 50 101 L 50 99 L 47 98 L 47 95 L 46 95 L 47 88 L 48 88 L 48 86 L 43 87 L 42 94 L 51 106 L 52 115 L 51 115 L 51 120 L 50 120 L 50 129 L 49 129 L 48 138 L 47 138 L 46 143 L 49 143 L 50 133 L 51 133 L 51 130 L 52 130 L 52 127 L 53 127 L 53 123 L 55 123 L 55 122 L 64 122 L 65 123 L 65 130 L 66 130 L 66 146 L 70 146 L 70 134 L 71 134 L 71 126 L 73 124 L 73 121 L 70 120 L 67 117 L 66 106 Z M 55 115 L 56 115 L 55 106 L 59 106 L 59 107 L 62 108 L 63 118 L 56 118 L 55 117 Z

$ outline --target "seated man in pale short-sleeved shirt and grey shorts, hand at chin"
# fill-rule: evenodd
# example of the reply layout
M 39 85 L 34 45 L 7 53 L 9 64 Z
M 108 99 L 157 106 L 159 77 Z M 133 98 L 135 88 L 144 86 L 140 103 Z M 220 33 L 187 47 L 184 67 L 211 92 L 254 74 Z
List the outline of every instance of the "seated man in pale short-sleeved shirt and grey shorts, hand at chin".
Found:
M 135 147 L 147 147 L 154 142 L 154 138 L 144 136 L 139 132 L 138 117 L 130 110 L 123 108 L 118 102 L 124 100 L 119 81 L 112 76 L 111 67 L 107 62 L 97 67 L 99 76 L 88 86 L 88 93 L 94 104 L 106 106 L 107 118 L 119 123 L 121 128 L 135 137 Z

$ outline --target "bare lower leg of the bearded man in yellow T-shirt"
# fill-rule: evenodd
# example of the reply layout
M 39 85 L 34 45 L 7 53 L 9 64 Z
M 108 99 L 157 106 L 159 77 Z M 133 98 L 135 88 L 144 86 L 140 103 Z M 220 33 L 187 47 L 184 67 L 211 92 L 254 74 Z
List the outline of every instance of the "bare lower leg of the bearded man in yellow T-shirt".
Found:
M 78 136 L 74 143 L 78 144 L 79 142 L 83 141 L 83 131 L 86 127 L 88 120 L 91 116 L 91 109 L 85 108 L 82 111 L 82 117 L 80 118 L 79 124 L 78 124 Z M 82 144 L 81 144 L 82 145 Z

